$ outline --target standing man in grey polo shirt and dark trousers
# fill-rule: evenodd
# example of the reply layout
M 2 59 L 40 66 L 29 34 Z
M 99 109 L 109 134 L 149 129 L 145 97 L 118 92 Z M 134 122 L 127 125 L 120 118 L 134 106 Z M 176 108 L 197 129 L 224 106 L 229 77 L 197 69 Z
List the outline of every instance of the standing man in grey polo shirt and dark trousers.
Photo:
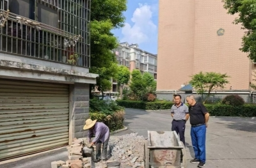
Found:
M 172 131 L 175 131 L 180 135 L 180 141 L 183 142 L 185 146 L 185 128 L 186 121 L 189 118 L 188 106 L 181 102 L 180 95 L 174 95 L 175 104 L 172 105 Z

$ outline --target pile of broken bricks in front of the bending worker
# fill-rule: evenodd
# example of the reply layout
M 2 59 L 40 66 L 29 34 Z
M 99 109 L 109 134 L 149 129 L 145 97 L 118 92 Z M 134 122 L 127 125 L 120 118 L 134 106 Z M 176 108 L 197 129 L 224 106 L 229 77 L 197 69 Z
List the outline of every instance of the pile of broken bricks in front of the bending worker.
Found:
M 91 168 L 92 157 L 83 157 L 83 148 L 87 145 L 86 142 L 86 138 L 75 138 L 72 144 L 67 147 L 69 160 L 51 162 L 52 168 Z

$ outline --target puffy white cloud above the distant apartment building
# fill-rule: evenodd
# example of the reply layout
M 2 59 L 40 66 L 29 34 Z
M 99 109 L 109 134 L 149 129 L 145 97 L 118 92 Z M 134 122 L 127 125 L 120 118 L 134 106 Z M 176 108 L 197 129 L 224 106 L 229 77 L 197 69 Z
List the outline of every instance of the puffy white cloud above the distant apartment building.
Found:
M 126 22 L 122 28 L 124 37 L 121 42 L 140 44 L 150 41 L 152 36 L 157 33 L 157 26 L 152 21 L 152 11 L 155 11 L 156 7 L 148 4 L 139 4 L 139 6 L 134 11 L 131 19 L 133 25 Z

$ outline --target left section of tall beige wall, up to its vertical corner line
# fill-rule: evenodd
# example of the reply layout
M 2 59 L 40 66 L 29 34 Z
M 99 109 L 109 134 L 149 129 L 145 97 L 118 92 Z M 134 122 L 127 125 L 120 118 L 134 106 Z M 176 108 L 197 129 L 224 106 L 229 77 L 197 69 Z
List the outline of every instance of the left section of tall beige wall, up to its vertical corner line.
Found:
M 192 75 L 195 0 L 160 0 L 157 90 L 178 89 Z

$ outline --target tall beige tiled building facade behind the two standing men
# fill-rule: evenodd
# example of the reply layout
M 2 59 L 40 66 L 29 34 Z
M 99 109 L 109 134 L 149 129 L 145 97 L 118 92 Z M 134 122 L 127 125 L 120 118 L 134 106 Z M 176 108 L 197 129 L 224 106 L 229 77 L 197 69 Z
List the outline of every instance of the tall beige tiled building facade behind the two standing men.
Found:
M 256 66 L 239 50 L 244 30 L 232 24 L 235 18 L 221 0 L 159 1 L 158 98 L 172 100 L 173 93 L 183 94 L 179 89 L 200 71 L 230 76 L 226 88 L 214 93 L 250 98 Z

